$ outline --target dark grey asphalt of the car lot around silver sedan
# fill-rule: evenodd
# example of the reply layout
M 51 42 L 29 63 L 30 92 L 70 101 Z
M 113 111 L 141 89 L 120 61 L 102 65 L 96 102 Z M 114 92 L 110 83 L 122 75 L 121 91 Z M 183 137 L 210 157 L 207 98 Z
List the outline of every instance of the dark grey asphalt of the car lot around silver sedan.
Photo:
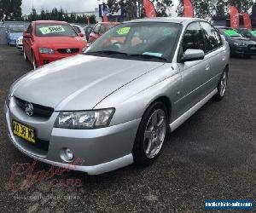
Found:
M 15 47 L 0 45 L 2 109 L 11 83 L 31 69 Z M 88 176 L 33 162 L 9 142 L 0 116 L 1 212 L 202 212 L 205 199 L 256 202 L 256 57 L 231 59 L 224 100 L 175 130 L 146 168 Z

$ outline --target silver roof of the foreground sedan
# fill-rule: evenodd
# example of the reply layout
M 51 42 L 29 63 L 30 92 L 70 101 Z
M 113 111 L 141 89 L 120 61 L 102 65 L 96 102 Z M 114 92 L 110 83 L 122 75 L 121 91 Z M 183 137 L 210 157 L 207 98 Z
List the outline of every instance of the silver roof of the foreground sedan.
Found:
M 137 22 L 167 22 L 167 23 L 177 23 L 177 24 L 187 24 L 190 22 L 193 22 L 195 20 L 201 20 L 201 21 L 206 21 L 202 20 L 199 18 L 186 18 L 186 17 L 156 17 L 156 18 L 146 18 L 146 19 L 137 19 L 137 20 L 130 20 L 130 21 L 125 21 L 125 23 L 137 23 Z

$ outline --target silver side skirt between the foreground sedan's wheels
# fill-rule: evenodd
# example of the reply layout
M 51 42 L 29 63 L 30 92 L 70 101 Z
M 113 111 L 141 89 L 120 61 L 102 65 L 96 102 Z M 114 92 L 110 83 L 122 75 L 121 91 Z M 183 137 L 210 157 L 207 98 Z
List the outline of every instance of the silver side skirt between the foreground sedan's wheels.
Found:
M 207 101 L 209 101 L 213 95 L 218 92 L 218 89 L 214 89 L 209 95 L 207 95 L 204 99 L 195 104 L 194 107 L 191 107 L 187 112 L 183 113 L 182 116 L 177 118 L 175 121 L 170 124 L 171 132 L 176 130 L 181 124 L 183 124 L 187 119 L 189 119 L 195 112 L 197 112 L 201 107 L 203 107 Z

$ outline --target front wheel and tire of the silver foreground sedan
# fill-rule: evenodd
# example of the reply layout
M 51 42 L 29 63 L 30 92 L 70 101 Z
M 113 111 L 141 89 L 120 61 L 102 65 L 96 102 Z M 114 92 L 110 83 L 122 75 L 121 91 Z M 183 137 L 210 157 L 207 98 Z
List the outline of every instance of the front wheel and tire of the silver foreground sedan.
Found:
M 134 163 L 152 164 L 160 155 L 167 138 L 168 113 L 166 105 L 154 102 L 143 114 L 132 149 Z

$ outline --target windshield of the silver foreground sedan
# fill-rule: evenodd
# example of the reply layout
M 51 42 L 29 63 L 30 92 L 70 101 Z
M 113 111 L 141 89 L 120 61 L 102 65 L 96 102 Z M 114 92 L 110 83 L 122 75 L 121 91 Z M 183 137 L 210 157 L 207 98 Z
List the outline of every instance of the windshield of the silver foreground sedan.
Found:
M 84 54 L 171 60 L 180 29 L 174 23 L 125 23 L 113 27 Z

